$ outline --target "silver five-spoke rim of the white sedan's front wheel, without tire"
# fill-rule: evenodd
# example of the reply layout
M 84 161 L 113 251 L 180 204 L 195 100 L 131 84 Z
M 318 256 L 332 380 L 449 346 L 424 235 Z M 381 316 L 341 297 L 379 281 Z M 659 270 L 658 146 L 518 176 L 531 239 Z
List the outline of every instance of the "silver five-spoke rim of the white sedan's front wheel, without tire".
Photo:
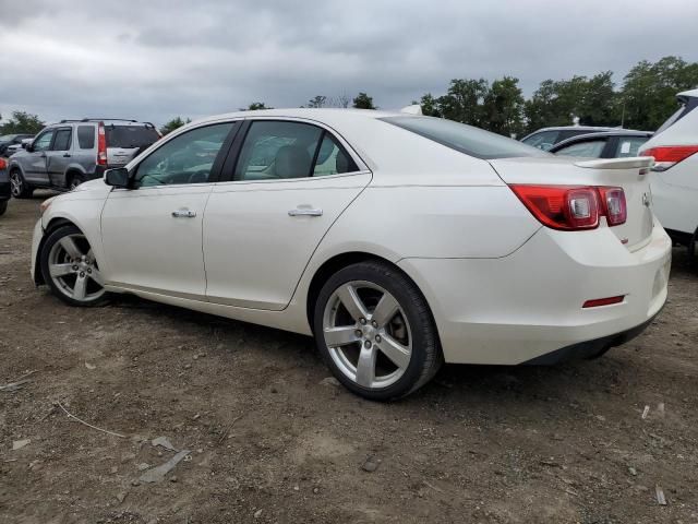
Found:
M 65 235 L 51 247 L 48 272 L 56 288 L 73 300 L 93 301 L 105 294 L 99 266 L 84 235 Z

